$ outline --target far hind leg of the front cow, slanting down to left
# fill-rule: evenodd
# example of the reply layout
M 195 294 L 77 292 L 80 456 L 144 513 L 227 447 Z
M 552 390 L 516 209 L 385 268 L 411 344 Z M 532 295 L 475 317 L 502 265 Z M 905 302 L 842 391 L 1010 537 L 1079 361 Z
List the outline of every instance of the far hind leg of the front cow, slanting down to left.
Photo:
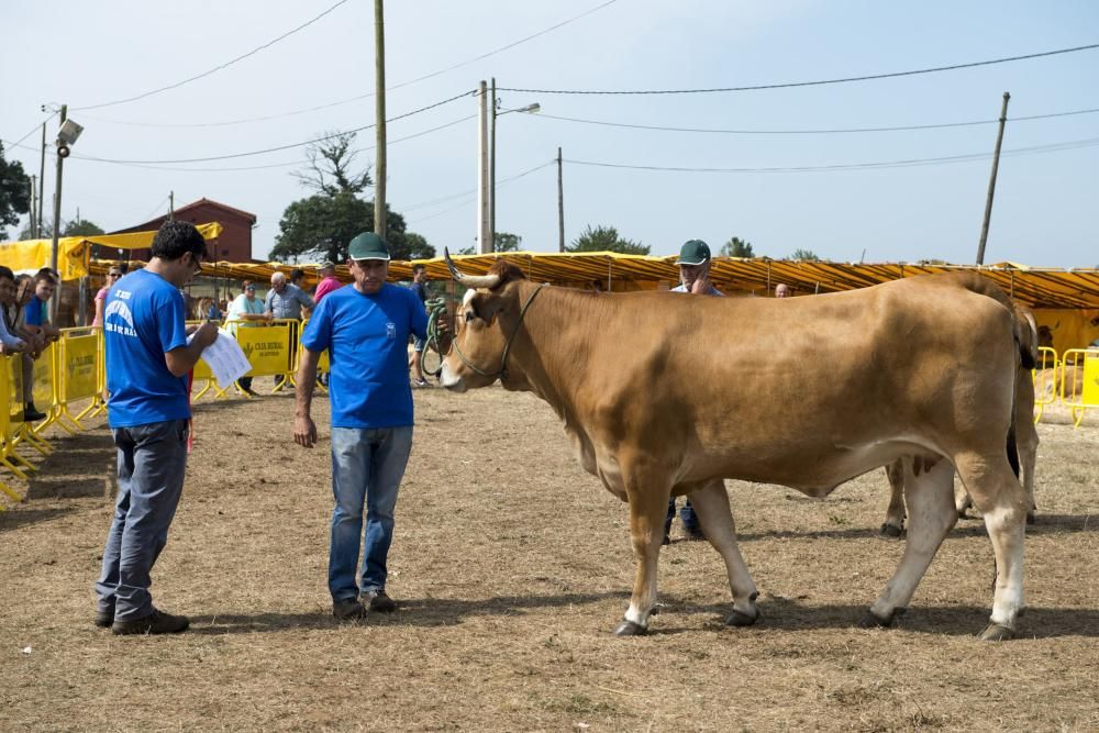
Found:
M 954 466 L 941 458 L 933 466 L 921 468 L 915 475 L 912 459 L 904 458 L 904 502 L 908 504 L 904 554 L 878 600 L 863 617 L 863 626 L 888 626 L 897 614 L 903 613 L 939 545 L 957 522 Z

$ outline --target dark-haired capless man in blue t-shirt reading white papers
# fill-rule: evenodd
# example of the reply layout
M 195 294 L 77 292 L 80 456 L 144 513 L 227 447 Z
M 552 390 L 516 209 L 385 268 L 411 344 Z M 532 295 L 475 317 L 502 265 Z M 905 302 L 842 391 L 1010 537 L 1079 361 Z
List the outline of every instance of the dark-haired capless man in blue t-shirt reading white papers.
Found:
M 96 584 L 96 625 L 115 634 L 176 633 L 189 623 L 157 610 L 148 588 L 184 488 L 191 417 L 187 373 L 218 337 L 209 322 L 188 337 L 179 292 L 201 270 L 204 255 L 206 241 L 195 226 L 165 222 L 148 265 L 119 280 L 103 309 L 119 500 Z

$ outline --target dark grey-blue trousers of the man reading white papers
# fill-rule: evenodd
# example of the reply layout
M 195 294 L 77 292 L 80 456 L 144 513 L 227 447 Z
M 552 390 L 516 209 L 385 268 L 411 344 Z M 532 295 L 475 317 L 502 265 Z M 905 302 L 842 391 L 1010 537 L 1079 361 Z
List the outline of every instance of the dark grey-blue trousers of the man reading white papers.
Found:
M 168 542 L 187 468 L 187 420 L 115 427 L 119 500 L 96 584 L 99 610 L 115 621 L 153 612 L 149 573 Z

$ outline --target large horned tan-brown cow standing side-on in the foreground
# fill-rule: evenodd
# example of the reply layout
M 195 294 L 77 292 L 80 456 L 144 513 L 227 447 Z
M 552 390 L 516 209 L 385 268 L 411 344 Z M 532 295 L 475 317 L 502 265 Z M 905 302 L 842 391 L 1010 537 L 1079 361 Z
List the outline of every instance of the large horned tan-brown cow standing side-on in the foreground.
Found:
M 534 392 L 581 465 L 629 502 L 636 575 L 615 633 L 648 628 L 669 496 L 690 496 L 728 570 L 726 623 L 741 626 L 759 610 L 722 479 L 825 497 L 902 458 L 907 547 L 863 625 L 889 625 L 907 608 L 957 521 L 956 468 L 998 568 L 981 637 L 1014 635 L 1028 501 L 1006 446 L 1020 348 L 1010 302 L 989 281 L 936 275 L 779 302 L 581 292 L 534 285 L 504 260 L 481 277 L 451 268 L 476 290 L 442 385 L 499 378 Z

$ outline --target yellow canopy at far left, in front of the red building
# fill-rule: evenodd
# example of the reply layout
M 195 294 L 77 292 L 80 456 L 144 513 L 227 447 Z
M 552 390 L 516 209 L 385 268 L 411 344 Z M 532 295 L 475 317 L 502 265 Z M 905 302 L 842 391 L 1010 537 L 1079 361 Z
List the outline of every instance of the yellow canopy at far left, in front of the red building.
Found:
M 221 235 L 218 222 L 199 224 L 199 232 L 207 240 Z M 156 232 L 130 234 L 99 234 L 96 236 L 63 236 L 57 240 L 57 269 L 63 280 L 78 280 L 90 274 L 90 245 L 99 244 L 113 249 L 144 249 L 153 244 Z M 52 240 L 0 242 L 0 264 L 18 273 L 36 273 L 49 265 Z

